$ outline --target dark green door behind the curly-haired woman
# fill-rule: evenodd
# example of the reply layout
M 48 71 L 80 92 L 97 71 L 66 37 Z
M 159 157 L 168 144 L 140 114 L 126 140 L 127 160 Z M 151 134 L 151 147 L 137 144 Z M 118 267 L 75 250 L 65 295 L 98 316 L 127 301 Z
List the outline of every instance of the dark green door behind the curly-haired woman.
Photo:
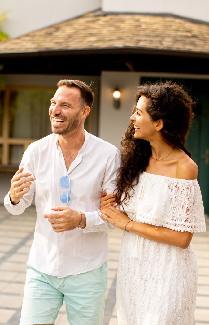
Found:
M 165 80 L 165 78 L 141 78 L 140 84 L 150 81 Z M 187 139 L 187 147 L 192 158 L 198 165 L 198 182 L 202 192 L 205 213 L 209 214 L 209 80 L 174 79 L 184 85 L 196 101 L 195 117 Z

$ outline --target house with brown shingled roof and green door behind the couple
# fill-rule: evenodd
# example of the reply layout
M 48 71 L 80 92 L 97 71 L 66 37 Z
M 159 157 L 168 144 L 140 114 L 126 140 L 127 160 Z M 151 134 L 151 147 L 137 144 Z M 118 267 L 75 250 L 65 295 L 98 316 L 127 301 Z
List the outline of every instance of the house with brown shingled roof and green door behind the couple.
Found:
M 8 183 L 29 143 L 51 132 L 49 99 L 59 79 L 94 82 L 96 101 L 85 127 L 118 147 L 136 85 L 172 79 L 197 100 L 188 147 L 199 166 L 209 213 L 208 17 L 195 10 L 194 1 L 190 17 L 180 1 L 175 11 L 165 9 L 163 0 L 158 7 L 150 2 L 153 12 L 134 0 L 130 8 L 123 1 L 120 7 L 102 1 L 99 10 L 0 43 L 0 181 Z M 119 108 L 114 107 L 115 89 L 121 92 Z

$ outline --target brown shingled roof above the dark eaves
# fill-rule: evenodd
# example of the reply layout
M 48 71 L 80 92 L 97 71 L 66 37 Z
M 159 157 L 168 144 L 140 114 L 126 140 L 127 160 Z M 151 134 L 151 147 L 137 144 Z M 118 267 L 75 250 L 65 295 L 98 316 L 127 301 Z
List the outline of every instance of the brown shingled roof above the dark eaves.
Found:
M 172 15 L 91 12 L 0 42 L 0 54 L 112 48 L 208 54 L 209 24 Z

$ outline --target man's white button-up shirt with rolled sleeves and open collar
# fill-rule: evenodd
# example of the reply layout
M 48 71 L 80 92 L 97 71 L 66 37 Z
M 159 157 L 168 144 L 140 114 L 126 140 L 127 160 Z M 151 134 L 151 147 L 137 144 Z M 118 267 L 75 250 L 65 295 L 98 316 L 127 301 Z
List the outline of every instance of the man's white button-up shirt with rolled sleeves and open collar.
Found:
M 100 267 L 108 259 L 108 229 L 111 224 L 98 215 L 102 191 L 115 189 L 116 171 L 120 165 L 119 150 L 108 142 L 85 131 L 85 142 L 67 171 L 58 136 L 51 134 L 29 145 L 23 154 L 20 168 L 35 177 L 30 191 L 20 202 L 12 205 L 9 193 L 5 197 L 6 209 L 14 215 L 30 206 L 34 192 L 37 220 L 29 265 L 40 272 L 66 277 Z M 69 175 L 71 201 L 60 201 L 64 190 L 59 179 Z M 44 214 L 51 208 L 69 206 L 86 216 L 85 229 L 56 233 Z

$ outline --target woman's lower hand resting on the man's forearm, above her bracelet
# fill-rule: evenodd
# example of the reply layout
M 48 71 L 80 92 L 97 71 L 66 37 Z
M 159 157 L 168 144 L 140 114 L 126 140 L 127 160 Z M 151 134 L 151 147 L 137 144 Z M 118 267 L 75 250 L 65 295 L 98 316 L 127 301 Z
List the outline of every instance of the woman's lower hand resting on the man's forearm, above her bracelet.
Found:
M 110 206 L 105 209 L 100 209 L 98 211 L 99 211 L 99 216 L 103 220 L 110 222 L 113 226 L 120 228 L 122 230 L 125 230 L 125 225 L 130 220 L 127 214 L 115 209 L 115 207 L 113 206 Z M 107 216 L 102 214 L 106 214 Z

